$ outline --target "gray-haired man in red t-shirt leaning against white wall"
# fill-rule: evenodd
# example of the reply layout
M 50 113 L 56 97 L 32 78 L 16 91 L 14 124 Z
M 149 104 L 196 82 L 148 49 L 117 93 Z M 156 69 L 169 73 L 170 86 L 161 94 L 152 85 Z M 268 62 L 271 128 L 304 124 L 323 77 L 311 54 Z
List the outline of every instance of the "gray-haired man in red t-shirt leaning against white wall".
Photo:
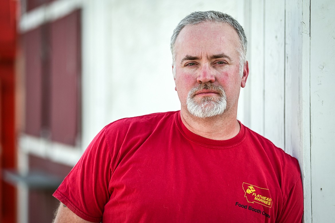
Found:
M 100 131 L 54 193 L 55 222 L 301 222 L 297 160 L 236 119 L 246 48 L 231 16 L 185 17 L 171 39 L 181 110 Z

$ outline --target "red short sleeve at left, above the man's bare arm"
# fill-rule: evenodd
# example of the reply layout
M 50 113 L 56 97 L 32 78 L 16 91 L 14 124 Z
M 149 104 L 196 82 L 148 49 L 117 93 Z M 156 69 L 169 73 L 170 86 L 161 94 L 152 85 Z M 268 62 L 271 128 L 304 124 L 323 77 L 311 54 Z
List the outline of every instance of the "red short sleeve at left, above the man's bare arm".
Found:
M 111 195 L 110 163 L 104 128 L 94 137 L 53 196 L 80 218 L 100 222 Z

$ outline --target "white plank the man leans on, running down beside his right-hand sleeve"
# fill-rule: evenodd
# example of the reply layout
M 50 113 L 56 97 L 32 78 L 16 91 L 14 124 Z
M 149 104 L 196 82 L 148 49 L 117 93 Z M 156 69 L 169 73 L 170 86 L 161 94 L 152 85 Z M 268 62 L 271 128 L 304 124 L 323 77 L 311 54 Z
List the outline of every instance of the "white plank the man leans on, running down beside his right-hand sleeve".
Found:
M 309 0 L 286 0 L 285 9 L 285 152 L 299 161 L 304 222 L 312 222 Z

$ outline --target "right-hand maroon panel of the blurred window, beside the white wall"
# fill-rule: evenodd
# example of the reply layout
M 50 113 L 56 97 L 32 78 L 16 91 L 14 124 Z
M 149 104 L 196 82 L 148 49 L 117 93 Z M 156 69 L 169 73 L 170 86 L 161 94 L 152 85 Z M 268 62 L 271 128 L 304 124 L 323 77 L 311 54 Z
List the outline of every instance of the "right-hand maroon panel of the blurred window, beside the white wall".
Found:
M 50 129 L 53 141 L 75 145 L 80 123 L 80 13 L 51 23 Z

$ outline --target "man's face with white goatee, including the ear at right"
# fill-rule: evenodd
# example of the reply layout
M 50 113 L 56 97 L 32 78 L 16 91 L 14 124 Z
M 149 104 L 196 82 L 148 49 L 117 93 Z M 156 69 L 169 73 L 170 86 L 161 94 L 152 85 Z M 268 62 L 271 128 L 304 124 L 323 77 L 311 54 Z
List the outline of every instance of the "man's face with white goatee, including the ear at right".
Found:
M 182 29 L 174 64 L 182 111 L 200 118 L 236 113 L 249 72 L 245 65 L 243 77 L 239 75 L 238 48 L 238 34 L 229 24 L 203 22 Z

